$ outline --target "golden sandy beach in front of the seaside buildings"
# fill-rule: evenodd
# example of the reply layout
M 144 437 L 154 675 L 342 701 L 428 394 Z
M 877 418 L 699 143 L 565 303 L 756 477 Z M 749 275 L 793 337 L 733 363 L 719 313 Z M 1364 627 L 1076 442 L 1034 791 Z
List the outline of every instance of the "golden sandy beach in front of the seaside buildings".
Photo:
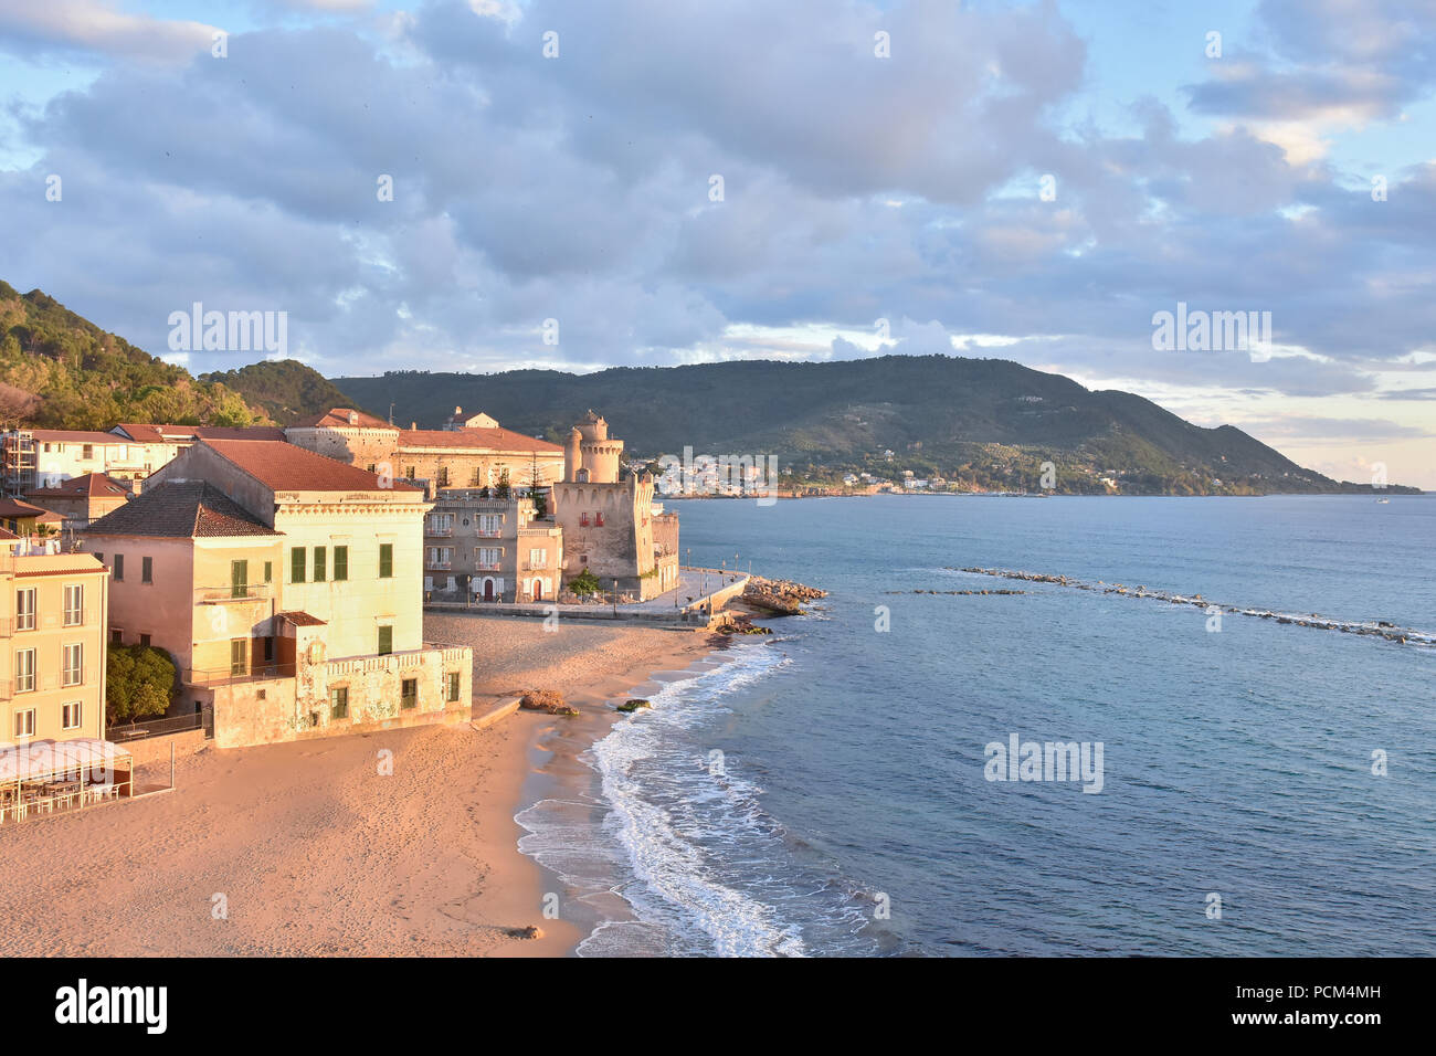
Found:
M 175 792 L 6 825 L 0 955 L 570 953 L 583 935 L 544 920 L 514 813 L 531 777 L 579 766 L 607 701 L 701 664 L 707 636 L 429 615 L 425 638 L 474 647 L 475 714 L 527 688 L 583 714 L 210 749 Z

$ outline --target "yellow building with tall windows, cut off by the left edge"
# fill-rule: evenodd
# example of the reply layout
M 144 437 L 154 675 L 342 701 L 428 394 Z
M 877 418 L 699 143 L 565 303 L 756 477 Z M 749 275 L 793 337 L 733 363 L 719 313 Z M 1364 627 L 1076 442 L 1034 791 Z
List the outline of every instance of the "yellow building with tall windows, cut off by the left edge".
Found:
M 105 566 L 0 530 L 0 741 L 105 736 Z

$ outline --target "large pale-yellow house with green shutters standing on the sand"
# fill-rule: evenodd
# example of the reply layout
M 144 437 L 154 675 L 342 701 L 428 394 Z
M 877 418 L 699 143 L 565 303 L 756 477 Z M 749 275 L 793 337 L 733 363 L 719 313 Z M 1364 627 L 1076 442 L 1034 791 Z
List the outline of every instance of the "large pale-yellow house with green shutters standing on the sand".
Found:
M 279 441 L 201 441 L 95 522 L 112 638 L 167 649 L 220 747 L 467 718 L 424 642 L 424 493 Z

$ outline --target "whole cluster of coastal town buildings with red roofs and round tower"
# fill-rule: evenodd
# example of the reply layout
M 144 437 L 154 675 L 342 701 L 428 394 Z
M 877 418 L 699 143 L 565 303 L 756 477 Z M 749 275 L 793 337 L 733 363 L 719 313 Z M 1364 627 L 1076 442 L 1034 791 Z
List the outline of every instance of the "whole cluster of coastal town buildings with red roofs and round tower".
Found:
M 149 764 L 174 787 L 177 751 L 508 714 L 524 694 L 475 693 L 495 615 L 734 634 L 757 631 L 728 602 L 800 601 L 681 566 L 678 514 L 593 411 L 561 445 L 336 407 L 16 428 L 0 458 L 0 825 L 141 796 Z

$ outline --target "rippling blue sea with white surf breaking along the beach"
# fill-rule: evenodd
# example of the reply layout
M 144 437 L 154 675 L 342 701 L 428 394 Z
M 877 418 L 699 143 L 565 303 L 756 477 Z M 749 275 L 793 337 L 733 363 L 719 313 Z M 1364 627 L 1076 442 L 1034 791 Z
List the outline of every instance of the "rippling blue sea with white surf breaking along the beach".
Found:
M 829 595 L 518 816 L 580 955 L 1436 954 L 1436 649 L 1106 592 L 1433 632 L 1436 496 L 668 507 Z

